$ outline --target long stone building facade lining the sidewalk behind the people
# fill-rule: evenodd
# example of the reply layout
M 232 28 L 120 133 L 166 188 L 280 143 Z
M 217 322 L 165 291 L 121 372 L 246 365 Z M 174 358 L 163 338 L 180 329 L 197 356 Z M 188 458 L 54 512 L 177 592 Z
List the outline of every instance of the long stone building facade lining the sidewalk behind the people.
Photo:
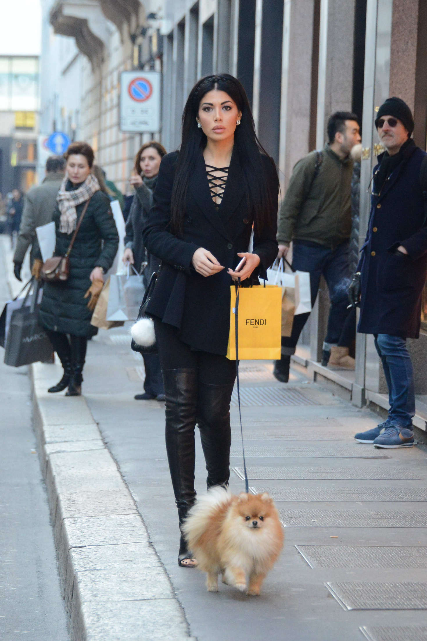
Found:
M 54 119 L 74 126 L 75 135 L 92 143 L 97 162 L 124 191 L 140 143 L 154 137 L 168 151 L 176 149 L 189 90 L 198 78 L 216 72 L 229 72 L 245 86 L 259 138 L 277 163 L 282 195 L 294 163 L 325 144 L 330 113 L 357 113 L 364 148 L 361 238 L 369 213 L 367 185 L 380 151 L 375 110 L 387 96 L 402 97 L 414 110 L 415 142 L 426 148 L 424 0 L 45 0 L 45 8 L 57 34 L 49 38 L 73 37 L 75 44 L 67 45 L 72 50 L 59 65 L 49 100 L 42 94 L 44 133 Z M 120 71 L 131 69 L 162 72 L 159 132 L 120 132 Z M 65 85 L 72 91 L 66 98 L 67 88 L 58 90 L 59 76 L 64 82 L 70 78 Z M 312 378 L 337 386 L 355 404 L 366 399 L 386 404 L 371 337 L 357 336 L 354 373 L 319 365 L 327 313 L 323 285 L 295 362 Z M 427 304 L 424 314 L 427 323 Z M 419 394 L 427 387 L 426 342 L 423 332 L 410 345 L 421 365 Z

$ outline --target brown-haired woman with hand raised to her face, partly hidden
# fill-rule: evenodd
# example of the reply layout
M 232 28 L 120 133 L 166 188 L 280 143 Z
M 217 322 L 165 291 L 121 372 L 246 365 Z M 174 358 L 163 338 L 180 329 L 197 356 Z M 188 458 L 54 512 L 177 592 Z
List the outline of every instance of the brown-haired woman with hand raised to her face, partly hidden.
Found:
M 126 221 L 125 251 L 123 262 L 129 262 L 137 272 L 141 272 L 143 263 L 147 266 L 143 271 L 143 281 L 147 287 L 151 274 L 159 269 L 159 260 L 150 256 L 143 244 L 142 228 L 143 218 L 150 211 L 153 204 L 153 190 L 156 187 L 157 174 L 160 162 L 166 155 L 166 149 L 154 140 L 146 142 L 136 154 L 131 184 L 135 188 L 131 211 Z M 157 354 L 142 354 L 144 360 L 145 379 L 144 393 L 135 394 L 136 401 L 165 400 L 163 379 L 161 376 L 160 361 Z

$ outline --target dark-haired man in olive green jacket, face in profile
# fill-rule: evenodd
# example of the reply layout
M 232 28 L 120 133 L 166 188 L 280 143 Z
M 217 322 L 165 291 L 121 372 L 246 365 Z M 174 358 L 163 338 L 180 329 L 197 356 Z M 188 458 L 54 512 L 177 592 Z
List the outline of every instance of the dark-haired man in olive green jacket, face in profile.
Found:
M 293 267 L 310 272 L 311 302 L 318 295 L 320 277 L 328 284 L 330 313 L 323 350 L 336 347 L 347 315 L 348 246 L 351 231 L 351 148 L 360 142 L 357 115 L 335 112 L 328 120 L 328 142 L 296 163 L 278 217 L 278 257 L 293 242 Z M 289 379 L 291 354 L 309 314 L 294 317 L 291 337 L 282 338 L 282 357 L 274 375 Z

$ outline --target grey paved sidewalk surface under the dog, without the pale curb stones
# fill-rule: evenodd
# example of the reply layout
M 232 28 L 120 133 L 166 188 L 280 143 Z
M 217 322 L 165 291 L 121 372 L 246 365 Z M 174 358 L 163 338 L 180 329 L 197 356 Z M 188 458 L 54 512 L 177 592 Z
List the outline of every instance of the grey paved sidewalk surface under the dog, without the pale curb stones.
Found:
M 354 433 L 378 416 L 295 372 L 282 385 L 271 363 L 241 363 L 250 486 L 277 500 L 286 544 L 259 599 L 223 586 L 207 594 L 201 573 L 177 566 L 163 407 L 133 400 L 142 387 L 138 358 L 124 331 L 100 333 L 90 344 L 85 396 L 198 641 L 427 639 L 424 445 L 387 451 L 357 444 Z M 232 428 L 230 487 L 240 492 L 235 395 Z M 198 441 L 196 481 L 204 492 Z

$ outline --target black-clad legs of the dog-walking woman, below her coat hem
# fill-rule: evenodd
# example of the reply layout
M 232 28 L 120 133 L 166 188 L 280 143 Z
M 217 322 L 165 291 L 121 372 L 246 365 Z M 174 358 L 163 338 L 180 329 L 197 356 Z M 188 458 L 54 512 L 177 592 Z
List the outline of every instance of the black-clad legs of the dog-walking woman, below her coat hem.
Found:
M 195 426 L 207 469 L 207 487 L 227 485 L 230 475 L 230 397 L 236 363 L 225 356 L 192 351 L 177 329 L 154 320 L 165 385 L 166 451 L 179 522 L 193 505 Z

